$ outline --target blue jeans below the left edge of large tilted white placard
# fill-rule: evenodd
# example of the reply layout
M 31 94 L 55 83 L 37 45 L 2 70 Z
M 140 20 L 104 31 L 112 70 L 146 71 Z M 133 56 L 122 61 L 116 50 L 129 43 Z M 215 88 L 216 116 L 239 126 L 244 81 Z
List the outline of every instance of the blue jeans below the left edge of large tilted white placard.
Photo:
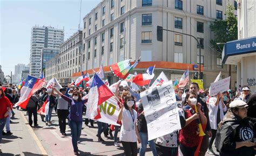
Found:
M 147 133 L 139 132 L 140 137 L 140 148 L 139 148 L 139 156 L 145 156 L 146 148 L 147 148 Z M 153 140 L 149 141 L 150 148 L 154 156 L 157 156 L 156 145 Z

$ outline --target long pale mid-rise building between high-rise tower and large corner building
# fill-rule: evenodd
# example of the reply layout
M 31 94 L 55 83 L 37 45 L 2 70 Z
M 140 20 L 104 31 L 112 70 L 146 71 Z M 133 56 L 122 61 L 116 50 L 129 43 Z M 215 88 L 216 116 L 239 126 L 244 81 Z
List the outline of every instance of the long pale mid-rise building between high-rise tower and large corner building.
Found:
M 72 73 L 85 70 L 85 66 L 82 66 L 84 62 L 85 53 L 82 53 L 82 31 L 77 31 L 60 45 L 59 55 L 46 63 L 46 80 L 56 77 L 59 78 L 60 84 L 68 84 L 71 82 Z

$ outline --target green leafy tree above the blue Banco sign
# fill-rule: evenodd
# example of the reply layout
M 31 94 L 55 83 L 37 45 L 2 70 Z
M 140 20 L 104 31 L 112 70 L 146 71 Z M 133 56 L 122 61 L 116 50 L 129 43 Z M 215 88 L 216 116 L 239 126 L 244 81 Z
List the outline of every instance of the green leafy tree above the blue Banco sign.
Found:
M 212 48 L 217 51 L 217 56 L 220 57 L 224 44 L 231 40 L 238 39 L 238 28 L 237 28 L 237 17 L 234 15 L 234 6 L 231 4 L 227 5 L 226 9 L 226 20 L 215 19 L 211 23 L 210 29 L 214 32 L 214 39 L 210 40 Z

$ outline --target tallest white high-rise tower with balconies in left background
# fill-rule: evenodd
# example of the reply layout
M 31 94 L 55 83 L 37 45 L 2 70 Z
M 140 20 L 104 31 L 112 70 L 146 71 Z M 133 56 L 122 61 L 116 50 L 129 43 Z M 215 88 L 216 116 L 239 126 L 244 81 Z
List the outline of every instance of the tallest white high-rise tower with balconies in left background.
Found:
M 31 29 L 30 74 L 35 77 L 41 72 L 41 51 L 43 48 L 60 48 L 64 42 L 64 29 L 51 26 L 33 26 Z

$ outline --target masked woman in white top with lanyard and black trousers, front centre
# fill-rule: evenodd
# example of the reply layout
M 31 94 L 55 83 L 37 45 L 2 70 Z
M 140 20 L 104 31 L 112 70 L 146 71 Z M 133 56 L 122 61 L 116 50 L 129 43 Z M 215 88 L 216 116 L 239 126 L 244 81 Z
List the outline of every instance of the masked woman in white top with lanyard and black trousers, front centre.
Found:
M 133 109 L 135 99 L 128 94 L 124 98 L 124 104 L 121 104 L 118 113 L 118 121 L 122 121 L 123 125 L 120 130 L 120 140 L 124 147 L 126 156 L 137 155 L 137 140 L 140 143 L 137 123 L 137 112 Z

